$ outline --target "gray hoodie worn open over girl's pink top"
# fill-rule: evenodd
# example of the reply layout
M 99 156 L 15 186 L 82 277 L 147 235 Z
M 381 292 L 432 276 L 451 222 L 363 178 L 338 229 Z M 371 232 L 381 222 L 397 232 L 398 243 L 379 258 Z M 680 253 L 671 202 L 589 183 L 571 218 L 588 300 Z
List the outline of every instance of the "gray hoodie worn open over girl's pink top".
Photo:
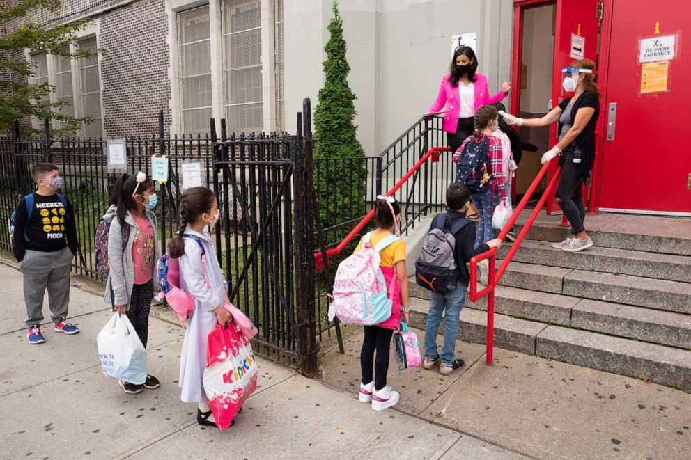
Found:
M 156 233 L 156 216 L 153 212 L 148 210 L 146 211 L 146 216 L 153 229 L 154 258 L 158 261 L 160 257 L 160 248 L 158 246 L 158 235 Z M 118 208 L 115 205 L 111 205 L 106 214 L 104 214 L 103 220 L 110 223 L 110 230 L 108 233 L 108 264 L 110 266 L 110 271 L 108 273 L 104 301 L 111 306 L 127 305 L 127 310 L 130 310 L 132 287 L 134 287 L 132 243 L 134 243 L 137 223 L 132 219 L 132 214 L 127 211 L 125 215 L 125 225 L 130 225 L 130 237 L 127 239 L 127 246 L 125 246 L 125 251 L 123 251 L 123 230 L 118 220 Z M 158 290 L 158 276 L 155 263 L 153 264 L 152 276 L 153 288 L 154 292 L 156 292 Z

